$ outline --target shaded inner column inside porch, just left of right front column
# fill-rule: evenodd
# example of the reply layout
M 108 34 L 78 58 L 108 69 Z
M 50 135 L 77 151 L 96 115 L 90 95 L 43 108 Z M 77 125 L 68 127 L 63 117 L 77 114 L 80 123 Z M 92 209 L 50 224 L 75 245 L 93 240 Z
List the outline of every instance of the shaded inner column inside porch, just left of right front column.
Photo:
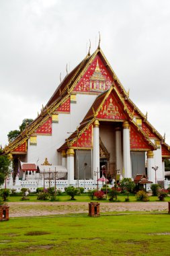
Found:
M 116 137 L 116 168 L 117 170 L 120 170 L 120 173 L 122 174 L 123 156 L 122 156 L 122 136 L 121 136 L 120 127 L 116 127 L 115 137 Z

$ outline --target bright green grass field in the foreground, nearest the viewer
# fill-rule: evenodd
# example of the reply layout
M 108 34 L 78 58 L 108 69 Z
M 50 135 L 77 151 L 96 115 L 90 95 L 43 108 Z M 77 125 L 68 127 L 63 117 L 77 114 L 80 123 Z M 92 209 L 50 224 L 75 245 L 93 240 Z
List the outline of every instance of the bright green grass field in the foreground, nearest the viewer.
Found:
M 0 255 L 169 256 L 169 214 L 48 216 L 0 222 Z

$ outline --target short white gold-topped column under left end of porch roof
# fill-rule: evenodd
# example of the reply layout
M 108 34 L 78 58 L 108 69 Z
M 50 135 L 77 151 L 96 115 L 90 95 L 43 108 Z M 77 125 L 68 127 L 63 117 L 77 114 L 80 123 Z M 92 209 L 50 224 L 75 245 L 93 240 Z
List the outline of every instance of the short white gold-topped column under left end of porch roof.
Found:
M 75 152 L 73 148 L 69 148 L 67 150 L 67 171 L 68 171 L 68 184 L 69 185 L 74 185 L 75 180 L 74 180 L 74 155 Z

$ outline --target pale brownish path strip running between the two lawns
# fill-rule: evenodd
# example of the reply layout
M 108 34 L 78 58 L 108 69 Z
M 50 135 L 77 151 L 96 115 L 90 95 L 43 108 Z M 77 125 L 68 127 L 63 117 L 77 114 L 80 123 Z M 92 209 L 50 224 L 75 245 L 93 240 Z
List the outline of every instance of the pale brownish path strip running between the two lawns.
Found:
M 99 201 L 98 201 L 99 202 Z M 99 202 L 100 203 L 100 202 Z M 9 205 L 10 217 L 47 216 L 55 214 L 88 213 L 89 203 L 85 202 L 15 202 Z M 100 213 L 106 212 L 153 212 L 167 211 L 168 202 L 100 203 Z

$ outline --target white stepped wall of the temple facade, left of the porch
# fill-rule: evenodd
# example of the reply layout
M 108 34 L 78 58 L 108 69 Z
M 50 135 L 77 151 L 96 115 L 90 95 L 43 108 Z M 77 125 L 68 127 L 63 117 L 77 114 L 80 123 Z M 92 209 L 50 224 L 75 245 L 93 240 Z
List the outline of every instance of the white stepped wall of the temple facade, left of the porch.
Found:
M 37 135 L 37 145 L 29 145 L 28 162 L 43 164 L 45 158 L 52 165 L 58 164 L 57 149 L 75 131 L 93 104 L 96 95 L 77 94 L 77 102 L 71 103 L 71 113 L 58 115 L 58 123 L 52 123 L 52 135 Z M 38 160 L 39 159 L 39 160 Z

